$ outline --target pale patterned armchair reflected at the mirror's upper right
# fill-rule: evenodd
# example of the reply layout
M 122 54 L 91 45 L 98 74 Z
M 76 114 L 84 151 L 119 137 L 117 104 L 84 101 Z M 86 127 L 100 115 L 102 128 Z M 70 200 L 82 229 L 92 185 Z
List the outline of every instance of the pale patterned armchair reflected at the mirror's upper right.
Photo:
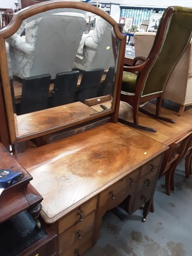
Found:
M 92 70 L 115 65 L 113 52 L 113 31 L 106 20 L 99 18 L 95 28 L 83 35 L 77 51 L 74 68 L 80 70 Z

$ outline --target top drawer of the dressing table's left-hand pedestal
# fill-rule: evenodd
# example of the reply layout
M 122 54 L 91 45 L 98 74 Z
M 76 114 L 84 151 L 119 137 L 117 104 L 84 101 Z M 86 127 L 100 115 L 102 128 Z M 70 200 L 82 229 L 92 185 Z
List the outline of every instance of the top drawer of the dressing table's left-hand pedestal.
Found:
M 61 234 L 63 231 L 67 230 L 67 228 L 71 227 L 75 223 L 84 223 L 84 218 L 90 212 L 95 211 L 97 205 L 97 196 L 88 200 L 88 202 L 82 204 L 77 207 L 74 211 L 71 211 L 69 214 L 61 218 L 58 221 L 58 232 Z

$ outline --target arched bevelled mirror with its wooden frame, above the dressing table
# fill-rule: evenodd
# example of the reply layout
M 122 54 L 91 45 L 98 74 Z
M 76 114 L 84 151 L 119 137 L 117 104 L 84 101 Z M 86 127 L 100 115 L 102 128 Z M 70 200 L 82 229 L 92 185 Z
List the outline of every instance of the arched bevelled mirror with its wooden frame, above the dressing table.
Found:
M 117 122 L 125 37 L 90 4 L 47 1 L 0 31 L 10 143 L 109 116 Z

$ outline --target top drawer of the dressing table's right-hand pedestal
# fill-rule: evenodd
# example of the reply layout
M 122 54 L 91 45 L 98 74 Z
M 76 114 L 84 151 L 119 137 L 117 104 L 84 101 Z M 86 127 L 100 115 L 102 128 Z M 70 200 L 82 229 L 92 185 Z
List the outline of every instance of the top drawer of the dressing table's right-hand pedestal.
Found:
M 148 161 L 148 163 L 143 164 L 143 166 L 141 166 L 140 178 L 145 175 L 148 175 L 148 177 L 153 177 L 154 175 L 157 175 L 160 162 L 161 162 L 161 155 Z

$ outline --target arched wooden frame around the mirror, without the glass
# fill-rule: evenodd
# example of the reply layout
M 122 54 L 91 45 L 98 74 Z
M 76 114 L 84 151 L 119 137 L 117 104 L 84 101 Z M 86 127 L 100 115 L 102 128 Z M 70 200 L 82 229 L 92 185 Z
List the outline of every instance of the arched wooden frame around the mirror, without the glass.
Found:
M 87 118 L 83 118 L 74 122 L 70 122 L 63 125 L 56 125 L 50 129 L 45 129 L 43 131 L 35 132 L 33 134 L 26 134 L 24 136 L 17 137 L 16 135 L 16 126 L 15 126 L 15 113 L 13 111 L 13 104 L 12 104 L 12 95 L 11 95 L 11 88 L 10 88 L 10 78 L 8 74 L 8 61 L 6 56 L 6 47 L 5 47 L 5 40 L 12 36 L 22 24 L 22 21 L 36 15 L 38 13 L 43 13 L 49 10 L 54 10 L 58 8 L 74 8 L 79 10 L 84 10 L 86 12 L 95 13 L 95 15 L 99 15 L 104 20 L 109 22 L 111 26 L 113 26 L 114 32 L 118 40 L 120 40 L 120 48 L 119 54 L 117 59 L 117 66 L 116 66 L 116 76 L 115 76 L 115 90 L 113 92 L 113 102 L 112 108 L 99 112 L 93 116 L 88 116 Z M 10 24 L 5 28 L 0 30 L 0 71 L 1 71 L 1 82 L 3 85 L 3 96 L 4 96 L 4 106 L 6 111 L 6 120 L 8 125 L 8 132 L 9 132 L 9 139 L 10 144 L 14 145 L 17 142 L 31 140 L 33 138 L 37 138 L 40 136 L 44 136 L 45 134 L 50 134 L 52 132 L 61 131 L 68 127 L 74 127 L 75 125 L 83 124 L 84 122 L 98 120 L 103 116 L 110 116 L 111 122 L 118 122 L 118 110 L 120 104 L 120 89 L 122 84 L 122 72 L 124 66 L 124 56 L 125 56 L 125 42 L 126 37 L 120 33 L 118 29 L 118 24 L 116 21 L 108 15 L 108 13 L 103 12 L 99 8 L 92 6 L 86 3 L 79 3 L 79 2 L 71 2 L 71 1 L 46 1 L 39 4 L 34 4 L 27 8 L 20 10 L 19 12 L 13 15 L 13 19 L 11 20 Z

